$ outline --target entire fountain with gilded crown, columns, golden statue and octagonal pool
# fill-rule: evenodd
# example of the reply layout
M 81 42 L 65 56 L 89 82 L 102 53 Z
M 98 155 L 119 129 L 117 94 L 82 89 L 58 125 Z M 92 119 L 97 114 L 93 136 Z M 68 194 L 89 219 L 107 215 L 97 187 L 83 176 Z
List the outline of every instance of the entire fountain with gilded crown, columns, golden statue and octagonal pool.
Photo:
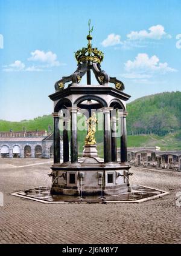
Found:
M 13 195 L 43 203 L 130 203 L 165 195 L 161 190 L 143 186 L 130 187 L 129 178 L 133 173 L 130 173 L 130 165 L 127 163 L 126 133 L 126 101 L 130 99 L 130 95 L 124 92 L 121 81 L 101 69 L 104 55 L 92 47 L 90 31 L 92 30 L 89 29 L 87 35 L 87 47 L 75 53 L 77 70 L 57 81 L 56 92 L 49 95 L 54 102 L 54 163 L 49 174 L 52 177 L 50 193 L 48 194 L 46 187 L 42 187 L 19 191 Z M 91 84 L 91 70 L 97 79 L 97 85 Z M 84 75 L 87 76 L 87 84 L 81 85 Z M 110 86 L 110 83 L 115 87 Z M 78 158 L 78 113 L 86 116 L 87 124 L 81 158 Z M 103 158 L 98 157 L 96 143 L 98 113 L 103 118 Z M 60 163 L 60 120 L 63 123 L 63 163 Z M 119 161 L 117 138 L 121 145 Z M 141 193 L 144 190 L 147 192 Z

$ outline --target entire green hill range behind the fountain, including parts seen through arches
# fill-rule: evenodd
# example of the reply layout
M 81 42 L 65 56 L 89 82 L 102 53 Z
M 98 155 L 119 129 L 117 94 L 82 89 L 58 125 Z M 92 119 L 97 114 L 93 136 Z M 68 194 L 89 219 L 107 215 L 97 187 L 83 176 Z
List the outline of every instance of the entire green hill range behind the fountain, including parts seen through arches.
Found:
M 164 92 L 145 96 L 127 104 L 128 146 L 160 146 L 181 149 L 181 92 Z M 33 120 L 10 122 L 0 120 L 0 131 L 48 130 L 53 127 L 51 115 Z M 78 132 L 78 146 L 82 151 L 86 131 Z M 100 155 L 103 153 L 103 132 L 97 131 Z M 119 146 L 118 138 L 118 146 Z

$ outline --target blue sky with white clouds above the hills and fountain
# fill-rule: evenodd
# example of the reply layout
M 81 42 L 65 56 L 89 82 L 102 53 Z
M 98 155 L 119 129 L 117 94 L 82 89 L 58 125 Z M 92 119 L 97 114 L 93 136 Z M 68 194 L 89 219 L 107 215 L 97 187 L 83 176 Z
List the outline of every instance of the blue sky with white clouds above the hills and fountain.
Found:
M 102 69 L 132 100 L 180 90 L 180 13 L 180 0 L 0 0 L 0 119 L 52 112 L 48 95 L 76 69 L 89 19 Z

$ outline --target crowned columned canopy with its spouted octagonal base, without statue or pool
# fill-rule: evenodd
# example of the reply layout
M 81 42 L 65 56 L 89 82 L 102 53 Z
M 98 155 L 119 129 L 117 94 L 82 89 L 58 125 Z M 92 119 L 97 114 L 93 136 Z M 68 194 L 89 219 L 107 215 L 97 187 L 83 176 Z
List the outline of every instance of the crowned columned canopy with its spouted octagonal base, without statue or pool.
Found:
M 101 69 L 103 53 L 92 48 L 92 36 L 87 36 L 86 48 L 75 53 L 78 66 L 72 75 L 63 76 L 55 84 L 56 92 L 49 95 L 54 101 L 54 164 L 52 165 L 52 193 L 54 194 L 97 194 L 100 186 L 105 194 L 114 194 L 127 190 L 129 187 L 129 169 L 127 163 L 126 140 L 126 101 L 130 95 L 124 93 L 124 84 L 115 77 L 109 76 Z M 91 84 L 91 71 L 98 84 Z M 81 84 L 81 78 L 86 75 L 87 83 Z M 113 84 L 113 86 L 110 86 Z M 63 129 L 63 163 L 60 164 L 60 111 L 66 109 L 70 118 L 62 116 Z M 86 146 L 83 157 L 78 158 L 77 114 L 80 110 L 88 110 L 89 118 L 92 110 L 103 113 L 104 158 L 97 157 L 97 146 Z M 115 116 L 110 120 L 115 110 Z M 121 115 L 118 113 L 121 110 Z M 118 113 L 118 115 L 116 114 Z M 121 160 L 117 160 L 116 120 L 121 120 Z M 71 127 L 71 138 L 68 136 L 68 124 Z M 69 140 L 71 160 L 69 160 Z M 83 138 L 84 140 L 84 138 Z M 94 151 L 94 152 L 93 152 Z M 125 178 L 127 177 L 127 178 Z

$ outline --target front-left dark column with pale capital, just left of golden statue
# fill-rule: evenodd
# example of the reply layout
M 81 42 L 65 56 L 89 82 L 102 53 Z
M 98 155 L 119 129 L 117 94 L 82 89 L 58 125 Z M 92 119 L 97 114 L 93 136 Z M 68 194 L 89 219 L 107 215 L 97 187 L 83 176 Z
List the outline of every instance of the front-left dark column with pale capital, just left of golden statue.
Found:
M 78 162 L 78 146 L 77 146 L 77 112 L 78 107 L 68 107 L 71 112 L 71 163 Z

